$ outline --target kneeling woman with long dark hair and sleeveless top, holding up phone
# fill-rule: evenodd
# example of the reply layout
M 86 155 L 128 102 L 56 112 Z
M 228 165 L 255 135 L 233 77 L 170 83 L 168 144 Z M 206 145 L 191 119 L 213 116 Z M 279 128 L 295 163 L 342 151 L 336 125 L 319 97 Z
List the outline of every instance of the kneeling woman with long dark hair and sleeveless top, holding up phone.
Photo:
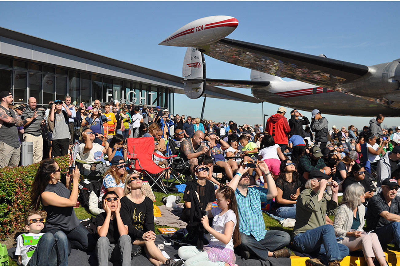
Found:
M 74 211 L 78 200 L 78 167 L 72 170 L 72 174 L 66 175 L 66 185 L 61 183 L 60 177 L 60 166 L 53 159 L 43 160 L 32 183 L 31 203 L 28 209 L 38 210 L 42 205 L 47 212 L 44 233 L 54 234 L 62 231 L 72 248 L 90 251 L 96 243 L 89 231 L 79 223 Z M 74 183 L 72 191 L 68 189 L 71 178 Z

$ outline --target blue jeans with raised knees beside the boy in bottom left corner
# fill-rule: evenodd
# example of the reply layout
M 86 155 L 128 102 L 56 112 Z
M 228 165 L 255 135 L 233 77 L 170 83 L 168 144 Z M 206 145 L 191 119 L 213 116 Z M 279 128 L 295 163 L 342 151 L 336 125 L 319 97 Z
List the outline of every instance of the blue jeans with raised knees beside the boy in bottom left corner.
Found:
M 68 239 L 62 232 L 44 233 L 28 266 L 68 266 Z

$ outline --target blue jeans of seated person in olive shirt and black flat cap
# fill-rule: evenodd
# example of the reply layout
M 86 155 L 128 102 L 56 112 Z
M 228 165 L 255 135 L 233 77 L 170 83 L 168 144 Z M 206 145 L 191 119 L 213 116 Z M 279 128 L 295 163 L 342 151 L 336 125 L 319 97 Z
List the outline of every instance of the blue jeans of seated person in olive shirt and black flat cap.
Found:
M 332 225 L 322 225 L 296 234 L 292 243 L 293 247 L 301 252 L 316 252 L 321 255 L 325 264 L 328 264 L 328 261 L 341 260 L 349 254 L 349 248 L 336 241 Z

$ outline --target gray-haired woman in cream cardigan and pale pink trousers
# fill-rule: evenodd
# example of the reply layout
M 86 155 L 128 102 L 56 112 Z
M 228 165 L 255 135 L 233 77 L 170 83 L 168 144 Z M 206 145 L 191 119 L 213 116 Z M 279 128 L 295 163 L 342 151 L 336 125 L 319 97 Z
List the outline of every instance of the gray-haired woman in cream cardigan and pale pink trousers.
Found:
M 364 187 L 358 183 L 351 184 L 344 191 L 342 202 L 335 215 L 333 227 L 338 241 L 350 251 L 362 250 L 368 266 L 374 265 L 377 258 L 380 266 L 388 265 L 385 254 L 375 233 L 366 233 L 364 227 L 365 207 Z

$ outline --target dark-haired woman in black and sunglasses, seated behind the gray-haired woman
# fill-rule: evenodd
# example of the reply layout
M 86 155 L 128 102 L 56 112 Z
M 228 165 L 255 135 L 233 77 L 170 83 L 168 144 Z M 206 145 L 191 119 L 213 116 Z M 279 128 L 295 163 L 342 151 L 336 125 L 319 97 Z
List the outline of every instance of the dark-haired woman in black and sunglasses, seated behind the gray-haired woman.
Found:
M 346 191 L 347 187 L 351 184 L 358 183 L 364 187 L 364 198 L 368 201 L 376 191 L 376 187 L 372 183 L 372 176 L 370 173 L 365 171 L 362 164 L 354 164 L 352 170 L 347 174 L 346 179 L 342 183 L 343 192 Z

